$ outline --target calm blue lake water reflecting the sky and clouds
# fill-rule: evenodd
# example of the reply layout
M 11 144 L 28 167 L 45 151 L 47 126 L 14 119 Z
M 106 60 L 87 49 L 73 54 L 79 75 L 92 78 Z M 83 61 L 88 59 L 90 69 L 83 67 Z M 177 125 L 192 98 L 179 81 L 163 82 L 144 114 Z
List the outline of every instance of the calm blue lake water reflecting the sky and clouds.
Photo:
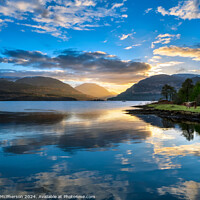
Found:
M 0 195 L 200 199 L 200 125 L 143 103 L 0 102 Z

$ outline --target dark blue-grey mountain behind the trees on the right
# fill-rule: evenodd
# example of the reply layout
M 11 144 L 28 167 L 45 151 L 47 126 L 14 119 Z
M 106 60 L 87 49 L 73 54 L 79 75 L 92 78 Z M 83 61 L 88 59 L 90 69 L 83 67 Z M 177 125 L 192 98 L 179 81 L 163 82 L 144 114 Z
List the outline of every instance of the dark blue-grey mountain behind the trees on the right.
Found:
M 155 75 L 148 77 L 134 84 L 125 92 L 110 98 L 109 100 L 132 100 L 132 101 L 152 101 L 159 100 L 161 89 L 165 84 L 171 85 L 178 90 L 182 83 L 187 79 L 192 78 L 193 82 L 200 81 L 200 76 L 191 74 L 175 74 L 175 75 Z

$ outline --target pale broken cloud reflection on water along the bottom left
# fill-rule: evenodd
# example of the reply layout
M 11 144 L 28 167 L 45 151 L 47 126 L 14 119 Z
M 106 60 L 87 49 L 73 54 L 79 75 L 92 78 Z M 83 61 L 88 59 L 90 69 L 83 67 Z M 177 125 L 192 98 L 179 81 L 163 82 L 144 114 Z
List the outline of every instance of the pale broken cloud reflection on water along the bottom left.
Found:
M 127 199 L 128 180 L 123 175 L 102 175 L 98 171 L 68 171 L 66 163 L 52 166 L 50 172 L 36 173 L 30 177 L 0 178 L 2 194 L 85 194 L 97 199 Z

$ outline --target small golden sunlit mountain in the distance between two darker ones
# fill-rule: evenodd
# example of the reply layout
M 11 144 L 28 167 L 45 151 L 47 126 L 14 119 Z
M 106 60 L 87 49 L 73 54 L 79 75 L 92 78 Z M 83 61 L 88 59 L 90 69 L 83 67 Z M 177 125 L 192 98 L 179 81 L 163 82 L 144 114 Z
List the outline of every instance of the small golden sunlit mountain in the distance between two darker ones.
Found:
M 106 99 L 108 97 L 115 96 L 112 92 L 109 92 L 104 87 L 101 87 L 95 83 L 84 83 L 82 85 L 79 85 L 75 87 L 76 90 L 91 95 L 96 98 Z

